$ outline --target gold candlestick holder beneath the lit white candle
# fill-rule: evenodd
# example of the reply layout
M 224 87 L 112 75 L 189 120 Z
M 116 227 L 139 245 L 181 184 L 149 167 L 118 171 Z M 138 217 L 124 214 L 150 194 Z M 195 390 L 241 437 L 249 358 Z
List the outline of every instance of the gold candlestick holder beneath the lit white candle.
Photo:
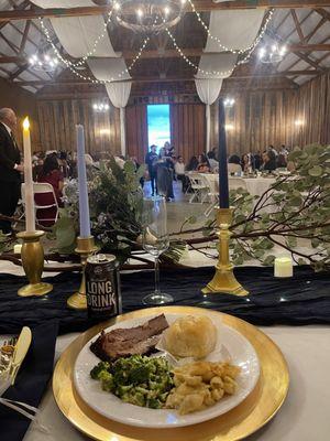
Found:
M 23 240 L 21 258 L 29 284 L 19 289 L 21 297 L 44 295 L 53 290 L 53 284 L 41 281 L 44 269 L 44 249 L 40 241 L 44 232 L 21 232 L 16 237 Z

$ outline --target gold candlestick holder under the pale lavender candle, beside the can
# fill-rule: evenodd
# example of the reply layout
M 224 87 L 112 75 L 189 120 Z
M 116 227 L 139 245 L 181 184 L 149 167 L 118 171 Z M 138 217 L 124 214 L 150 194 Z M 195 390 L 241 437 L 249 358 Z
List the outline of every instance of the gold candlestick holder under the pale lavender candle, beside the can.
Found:
M 87 300 L 86 300 L 86 286 L 85 286 L 85 267 L 87 263 L 88 256 L 92 255 L 98 250 L 98 247 L 95 245 L 94 237 L 77 237 L 77 248 L 76 252 L 80 255 L 81 260 L 81 283 L 80 288 L 77 292 L 70 295 L 67 300 L 67 305 L 74 310 L 86 310 L 87 309 Z

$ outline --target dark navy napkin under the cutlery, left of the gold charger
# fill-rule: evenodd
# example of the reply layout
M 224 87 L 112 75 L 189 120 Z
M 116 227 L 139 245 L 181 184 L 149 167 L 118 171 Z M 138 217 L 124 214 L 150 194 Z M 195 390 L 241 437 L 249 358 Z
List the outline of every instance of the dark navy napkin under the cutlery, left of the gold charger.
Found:
M 38 407 L 53 373 L 58 321 L 32 329 L 32 344 L 18 374 L 14 386 L 2 396 L 13 401 Z M 31 420 L 0 405 L 1 441 L 21 441 Z

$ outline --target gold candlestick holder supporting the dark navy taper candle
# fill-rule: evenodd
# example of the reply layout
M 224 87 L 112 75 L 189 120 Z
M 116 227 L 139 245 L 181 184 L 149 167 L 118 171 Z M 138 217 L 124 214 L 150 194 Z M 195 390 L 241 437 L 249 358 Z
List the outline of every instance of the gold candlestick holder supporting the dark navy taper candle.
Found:
M 233 273 L 233 265 L 229 256 L 229 240 L 232 223 L 232 208 L 218 208 L 217 223 L 219 225 L 219 260 L 216 265 L 213 279 L 202 288 L 204 294 L 221 292 L 233 295 L 248 295 L 246 291 L 237 280 Z

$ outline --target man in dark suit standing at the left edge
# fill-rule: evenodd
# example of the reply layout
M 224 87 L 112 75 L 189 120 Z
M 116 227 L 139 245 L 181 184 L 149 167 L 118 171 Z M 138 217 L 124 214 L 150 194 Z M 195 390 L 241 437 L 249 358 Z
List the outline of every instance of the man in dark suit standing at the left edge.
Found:
M 21 153 L 13 131 L 18 125 L 15 112 L 9 108 L 0 109 L 0 214 L 13 216 L 21 194 Z M 12 233 L 11 223 L 0 219 L 0 230 Z

